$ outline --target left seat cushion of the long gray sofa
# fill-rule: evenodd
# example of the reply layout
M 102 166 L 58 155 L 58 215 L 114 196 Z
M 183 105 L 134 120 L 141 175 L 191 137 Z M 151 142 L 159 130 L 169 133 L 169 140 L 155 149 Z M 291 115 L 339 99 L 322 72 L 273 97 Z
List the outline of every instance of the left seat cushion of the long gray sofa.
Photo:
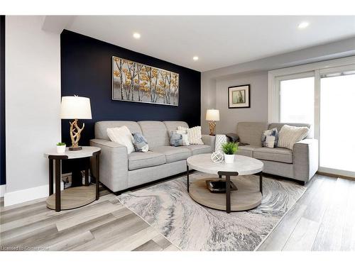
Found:
M 129 170 L 165 164 L 165 156 L 161 153 L 131 153 L 129 155 Z

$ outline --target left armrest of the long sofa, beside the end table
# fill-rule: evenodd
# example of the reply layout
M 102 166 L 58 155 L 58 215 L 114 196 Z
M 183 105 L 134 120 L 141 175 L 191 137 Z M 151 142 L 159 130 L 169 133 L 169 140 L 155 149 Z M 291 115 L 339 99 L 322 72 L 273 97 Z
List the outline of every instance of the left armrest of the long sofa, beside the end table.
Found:
M 113 192 L 128 188 L 128 153 L 127 148 L 119 143 L 109 140 L 93 139 L 90 145 L 101 148 L 100 155 L 100 182 Z M 95 174 L 92 163 L 92 171 Z

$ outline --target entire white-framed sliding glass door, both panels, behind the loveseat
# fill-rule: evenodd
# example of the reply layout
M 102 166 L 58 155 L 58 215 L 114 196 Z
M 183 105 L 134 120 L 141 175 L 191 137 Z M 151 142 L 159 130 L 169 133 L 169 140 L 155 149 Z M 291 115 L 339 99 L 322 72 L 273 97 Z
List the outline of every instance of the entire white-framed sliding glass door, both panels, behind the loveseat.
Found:
M 355 65 L 275 77 L 278 121 L 310 123 L 320 172 L 355 177 Z

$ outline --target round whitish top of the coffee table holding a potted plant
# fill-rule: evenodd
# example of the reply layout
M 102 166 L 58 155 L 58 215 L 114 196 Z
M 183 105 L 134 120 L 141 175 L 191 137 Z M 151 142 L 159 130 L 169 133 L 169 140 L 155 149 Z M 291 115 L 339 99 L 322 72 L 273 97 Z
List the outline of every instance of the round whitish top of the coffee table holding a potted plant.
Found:
M 234 163 L 212 162 L 210 153 L 193 155 L 187 158 L 187 165 L 207 174 L 217 174 L 219 171 L 224 171 L 246 175 L 263 171 L 263 162 L 243 155 L 235 155 Z

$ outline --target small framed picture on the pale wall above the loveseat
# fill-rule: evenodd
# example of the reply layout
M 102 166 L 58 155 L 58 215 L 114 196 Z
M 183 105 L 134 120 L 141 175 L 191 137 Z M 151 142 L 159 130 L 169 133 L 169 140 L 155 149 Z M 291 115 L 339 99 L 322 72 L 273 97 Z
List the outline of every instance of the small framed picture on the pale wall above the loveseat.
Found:
M 228 108 L 250 107 L 250 84 L 228 87 Z

